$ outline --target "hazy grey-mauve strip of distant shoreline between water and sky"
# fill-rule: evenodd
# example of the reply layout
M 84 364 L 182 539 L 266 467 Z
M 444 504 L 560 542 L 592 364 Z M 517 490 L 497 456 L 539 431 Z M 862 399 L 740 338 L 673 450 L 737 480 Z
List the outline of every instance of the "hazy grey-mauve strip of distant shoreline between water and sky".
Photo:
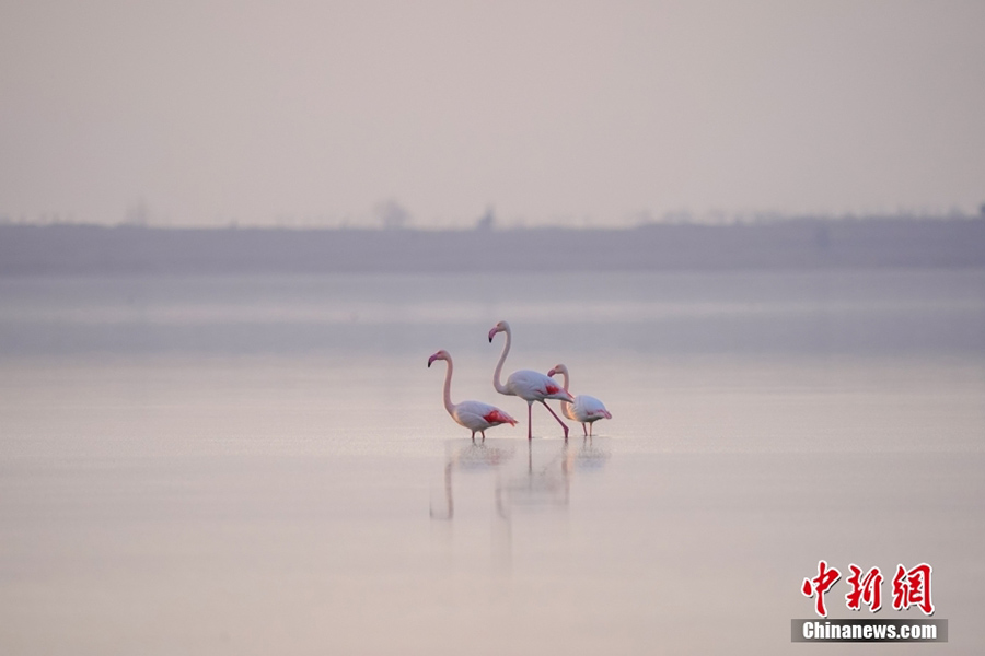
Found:
M 985 219 L 471 231 L 0 224 L 0 277 L 985 267 Z

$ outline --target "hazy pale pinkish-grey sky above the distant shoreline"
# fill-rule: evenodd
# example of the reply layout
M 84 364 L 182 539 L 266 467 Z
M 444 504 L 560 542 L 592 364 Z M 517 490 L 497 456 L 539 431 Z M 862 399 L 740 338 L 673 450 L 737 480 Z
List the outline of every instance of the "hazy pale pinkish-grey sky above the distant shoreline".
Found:
M 985 2 L 0 0 L 0 216 L 977 211 Z

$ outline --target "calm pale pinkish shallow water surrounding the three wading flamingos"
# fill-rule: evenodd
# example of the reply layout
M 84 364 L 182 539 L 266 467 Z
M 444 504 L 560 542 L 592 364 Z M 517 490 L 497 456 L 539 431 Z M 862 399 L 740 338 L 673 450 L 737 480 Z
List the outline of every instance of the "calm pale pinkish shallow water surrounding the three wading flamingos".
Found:
M 5 279 L 0 372 L 5 653 L 779 654 L 820 559 L 985 640 L 983 271 Z

